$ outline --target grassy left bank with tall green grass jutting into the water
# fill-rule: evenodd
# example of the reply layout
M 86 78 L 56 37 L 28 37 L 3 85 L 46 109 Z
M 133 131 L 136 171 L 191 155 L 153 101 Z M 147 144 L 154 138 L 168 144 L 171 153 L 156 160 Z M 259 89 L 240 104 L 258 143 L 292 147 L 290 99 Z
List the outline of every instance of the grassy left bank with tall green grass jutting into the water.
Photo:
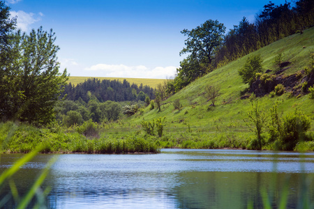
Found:
M 12 132 L 13 130 L 13 132 Z M 13 122 L 0 123 L 2 153 L 159 153 L 152 141 L 136 135 L 99 138 L 84 136 L 79 127 L 38 128 Z

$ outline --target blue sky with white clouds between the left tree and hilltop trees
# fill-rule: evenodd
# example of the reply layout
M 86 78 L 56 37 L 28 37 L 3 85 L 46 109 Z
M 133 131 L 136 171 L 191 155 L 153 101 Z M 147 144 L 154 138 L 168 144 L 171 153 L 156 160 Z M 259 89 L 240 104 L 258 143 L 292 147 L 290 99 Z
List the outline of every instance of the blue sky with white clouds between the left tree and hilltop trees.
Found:
M 184 56 L 180 31 L 206 20 L 227 27 L 253 21 L 260 0 L 9 0 L 22 31 L 53 29 L 61 70 L 71 76 L 173 77 Z M 272 1 L 276 4 L 284 0 Z

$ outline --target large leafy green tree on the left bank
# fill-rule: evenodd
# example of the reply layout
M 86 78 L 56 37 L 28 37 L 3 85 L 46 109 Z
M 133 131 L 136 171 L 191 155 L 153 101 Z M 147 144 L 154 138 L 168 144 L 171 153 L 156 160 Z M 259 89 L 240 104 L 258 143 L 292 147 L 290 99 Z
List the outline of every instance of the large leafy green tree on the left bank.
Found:
M 40 27 L 29 33 L 17 31 L 8 45 L 13 55 L 1 63 L 0 117 L 46 124 L 54 120 L 57 102 L 68 75 L 59 72 L 59 47 L 55 34 Z

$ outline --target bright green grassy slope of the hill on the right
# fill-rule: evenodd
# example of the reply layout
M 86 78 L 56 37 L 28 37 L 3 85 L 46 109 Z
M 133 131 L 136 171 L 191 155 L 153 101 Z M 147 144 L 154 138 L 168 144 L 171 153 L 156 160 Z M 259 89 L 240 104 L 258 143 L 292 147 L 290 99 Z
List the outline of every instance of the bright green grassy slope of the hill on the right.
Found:
M 303 34 L 294 34 L 274 42 L 251 54 L 261 54 L 264 60 L 262 63 L 264 70 L 275 70 L 274 59 L 279 52 L 283 53 L 283 61 L 292 63 L 291 68 L 283 72 L 285 75 L 303 70 L 311 59 L 311 52 L 314 52 L 314 28 L 304 31 Z M 141 128 L 142 121 L 152 121 L 156 118 L 165 117 L 165 135 L 158 139 L 158 143 L 163 146 L 206 148 L 207 146 L 201 146 L 200 143 L 217 139 L 220 142 L 222 141 L 216 146 L 217 148 L 228 146 L 228 141 L 234 140 L 233 144 L 237 144 L 237 141 L 239 141 L 236 147 L 241 148 L 241 144 L 247 144 L 250 139 L 255 137 L 243 121 L 244 116 L 251 109 L 251 103 L 248 99 L 240 99 L 241 91 L 248 88 L 248 84 L 243 84 L 241 77 L 238 75 L 239 68 L 244 65 L 251 54 L 210 72 L 186 86 L 179 93 L 167 98 L 162 102 L 160 112 L 157 109 L 149 110 L 149 107 L 147 107 L 144 111 L 120 121 L 114 127 L 110 125 L 106 132 L 108 134 L 126 134 L 128 132 L 144 134 Z M 215 103 L 216 107 L 209 107 L 211 102 L 203 96 L 204 86 L 207 84 L 220 86 L 220 96 Z M 180 111 L 175 110 L 173 107 L 173 102 L 176 99 L 179 99 L 183 104 Z M 260 107 L 267 114 L 269 114 L 269 109 L 274 106 L 276 101 L 278 101 L 278 111 L 282 116 L 294 111 L 296 108 L 303 111 L 311 118 L 311 132 L 313 135 L 314 101 L 310 100 L 308 95 L 301 95 L 296 98 L 290 97 L 290 93 L 284 93 L 274 98 L 265 95 L 258 100 Z M 190 145 L 188 146 L 188 144 Z

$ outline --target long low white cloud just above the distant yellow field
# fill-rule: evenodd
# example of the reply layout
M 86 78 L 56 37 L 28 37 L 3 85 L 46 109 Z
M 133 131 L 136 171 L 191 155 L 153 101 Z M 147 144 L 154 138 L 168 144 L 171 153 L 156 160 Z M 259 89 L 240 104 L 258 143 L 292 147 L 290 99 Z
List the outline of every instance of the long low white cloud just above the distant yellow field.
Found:
M 127 66 L 127 65 L 107 65 L 97 64 L 92 65 L 85 70 L 94 71 L 97 76 L 101 77 L 134 77 L 134 78 L 152 78 L 165 79 L 173 77 L 176 72 L 176 67 L 156 67 L 154 69 L 147 68 L 144 65 Z

